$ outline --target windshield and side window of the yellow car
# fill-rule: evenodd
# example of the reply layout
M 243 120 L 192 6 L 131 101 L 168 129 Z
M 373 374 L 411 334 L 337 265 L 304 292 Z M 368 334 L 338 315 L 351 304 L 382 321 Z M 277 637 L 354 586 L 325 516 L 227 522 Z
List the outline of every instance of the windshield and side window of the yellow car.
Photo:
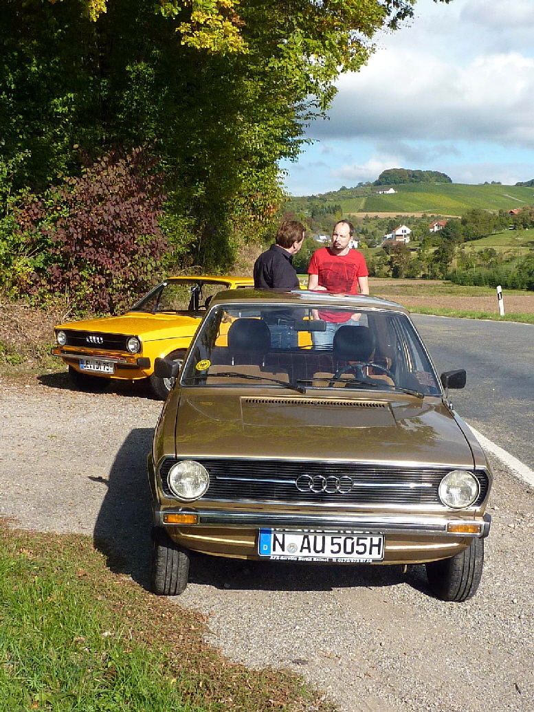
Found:
M 228 288 L 229 284 L 222 281 L 168 279 L 145 295 L 131 311 L 150 314 L 198 311 L 206 308 L 211 297 Z

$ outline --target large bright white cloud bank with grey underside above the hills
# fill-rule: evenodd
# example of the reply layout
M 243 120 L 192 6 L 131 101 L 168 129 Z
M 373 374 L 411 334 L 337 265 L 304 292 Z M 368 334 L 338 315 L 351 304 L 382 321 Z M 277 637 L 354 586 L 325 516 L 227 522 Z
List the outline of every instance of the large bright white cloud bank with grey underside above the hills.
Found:
M 492 140 L 534 147 L 534 59 L 516 52 L 478 56 L 468 66 L 414 50 L 371 59 L 342 75 L 330 121 L 313 137 L 377 140 Z

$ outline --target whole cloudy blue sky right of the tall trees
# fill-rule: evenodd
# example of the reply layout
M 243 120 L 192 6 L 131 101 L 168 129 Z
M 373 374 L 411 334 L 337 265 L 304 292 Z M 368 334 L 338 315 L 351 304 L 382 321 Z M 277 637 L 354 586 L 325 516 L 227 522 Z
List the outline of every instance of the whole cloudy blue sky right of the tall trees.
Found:
M 328 119 L 306 130 L 313 144 L 281 164 L 286 189 L 353 187 L 387 168 L 534 178 L 533 38 L 534 0 L 417 0 L 360 72 L 340 75 Z

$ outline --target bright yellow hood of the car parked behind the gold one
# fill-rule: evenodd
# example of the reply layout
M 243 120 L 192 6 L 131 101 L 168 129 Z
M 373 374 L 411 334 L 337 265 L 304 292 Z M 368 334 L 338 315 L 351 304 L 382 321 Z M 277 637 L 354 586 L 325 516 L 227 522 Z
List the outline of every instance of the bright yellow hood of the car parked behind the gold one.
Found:
M 144 341 L 176 337 L 183 330 L 184 335 L 193 335 L 201 317 L 184 314 L 148 314 L 128 312 L 122 316 L 105 316 L 99 319 L 85 319 L 56 326 L 56 329 L 92 331 L 101 334 L 128 334 L 140 336 Z M 180 330 L 177 332 L 177 329 Z

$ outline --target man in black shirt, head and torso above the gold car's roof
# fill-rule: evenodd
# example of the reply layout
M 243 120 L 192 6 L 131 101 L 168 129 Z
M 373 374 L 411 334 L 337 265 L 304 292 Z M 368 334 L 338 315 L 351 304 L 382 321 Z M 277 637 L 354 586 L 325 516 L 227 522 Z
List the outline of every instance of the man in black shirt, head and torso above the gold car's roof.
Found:
M 302 247 L 306 229 L 296 220 L 286 220 L 271 245 L 254 263 L 254 288 L 298 289 L 298 277 L 293 267 L 293 255 Z

